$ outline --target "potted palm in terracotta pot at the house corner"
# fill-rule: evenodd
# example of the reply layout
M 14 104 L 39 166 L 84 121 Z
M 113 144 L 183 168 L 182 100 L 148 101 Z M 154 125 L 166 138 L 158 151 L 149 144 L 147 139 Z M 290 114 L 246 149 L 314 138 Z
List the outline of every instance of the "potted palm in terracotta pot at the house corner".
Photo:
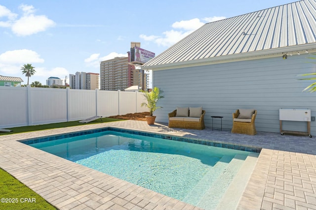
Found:
M 146 116 L 146 120 L 147 123 L 149 125 L 154 124 L 155 120 L 156 120 L 156 116 L 154 116 L 154 112 L 157 109 L 160 109 L 162 107 L 157 106 L 157 102 L 160 98 L 163 98 L 164 96 L 160 95 L 160 93 L 162 93 L 161 90 L 159 90 L 159 88 L 154 87 L 152 91 L 148 92 L 144 92 L 144 97 L 146 99 L 146 101 L 144 101 L 141 106 L 146 106 L 149 109 L 150 112 L 150 116 Z

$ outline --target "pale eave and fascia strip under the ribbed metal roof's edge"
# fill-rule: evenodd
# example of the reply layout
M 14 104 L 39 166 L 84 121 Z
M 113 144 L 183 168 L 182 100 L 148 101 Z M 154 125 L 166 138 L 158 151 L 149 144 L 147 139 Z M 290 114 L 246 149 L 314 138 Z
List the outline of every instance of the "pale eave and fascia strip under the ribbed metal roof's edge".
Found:
M 205 59 L 188 60 L 188 61 L 181 61 L 181 62 L 174 62 L 174 63 L 164 63 L 164 64 L 159 64 L 159 65 L 146 66 L 146 63 L 145 63 L 145 65 L 142 66 L 142 69 L 156 71 L 156 70 L 185 68 L 185 67 L 211 65 L 211 64 L 218 64 L 218 63 L 244 61 L 244 60 L 267 59 L 267 58 L 275 58 L 278 56 L 281 59 L 284 54 L 292 53 L 293 55 L 295 55 L 298 52 L 300 52 L 300 54 L 305 54 L 306 50 L 308 51 L 308 53 L 315 53 L 316 43 L 296 45 L 296 46 L 290 46 L 290 47 L 282 47 L 282 48 L 269 49 L 269 50 L 253 51 L 253 52 L 233 54 L 233 55 L 227 55 L 227 56 L 211 57 L 211 58 L 205 58 Z

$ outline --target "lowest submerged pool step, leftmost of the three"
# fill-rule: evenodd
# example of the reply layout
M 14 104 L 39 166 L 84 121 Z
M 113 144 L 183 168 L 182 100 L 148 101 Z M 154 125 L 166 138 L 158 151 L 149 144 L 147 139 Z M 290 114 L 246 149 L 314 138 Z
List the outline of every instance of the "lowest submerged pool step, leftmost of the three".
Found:
M 182 200 L 192 205 L 197 205 L 199 199 L 206 193 L 213 182 L 222 174 L 222 171 L 227 168 L 232 161 L 233 156 L 224 155 L 197 183 L 190 193 Z

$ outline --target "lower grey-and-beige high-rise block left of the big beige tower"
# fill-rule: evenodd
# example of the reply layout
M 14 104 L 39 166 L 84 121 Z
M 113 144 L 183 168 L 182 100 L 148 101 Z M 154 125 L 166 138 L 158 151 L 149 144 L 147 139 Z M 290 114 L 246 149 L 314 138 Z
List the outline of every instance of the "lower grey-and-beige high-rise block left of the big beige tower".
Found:
M 99 74 L 76 72 L 69 75 L 69 86 L 71 89 L 95 90 L 99 89 Z

